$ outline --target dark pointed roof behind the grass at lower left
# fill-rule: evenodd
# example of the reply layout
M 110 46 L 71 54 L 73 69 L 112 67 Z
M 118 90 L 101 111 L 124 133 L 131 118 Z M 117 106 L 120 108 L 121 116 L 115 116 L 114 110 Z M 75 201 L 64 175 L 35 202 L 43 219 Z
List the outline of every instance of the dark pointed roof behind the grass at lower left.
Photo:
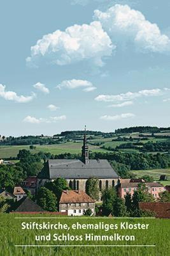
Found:
M 15 209 L 15 213 L 34 213 L 34 212 L 44 212 L 44 210 L 35 202 L 33 202 L 28 197 L 22 198 Z

